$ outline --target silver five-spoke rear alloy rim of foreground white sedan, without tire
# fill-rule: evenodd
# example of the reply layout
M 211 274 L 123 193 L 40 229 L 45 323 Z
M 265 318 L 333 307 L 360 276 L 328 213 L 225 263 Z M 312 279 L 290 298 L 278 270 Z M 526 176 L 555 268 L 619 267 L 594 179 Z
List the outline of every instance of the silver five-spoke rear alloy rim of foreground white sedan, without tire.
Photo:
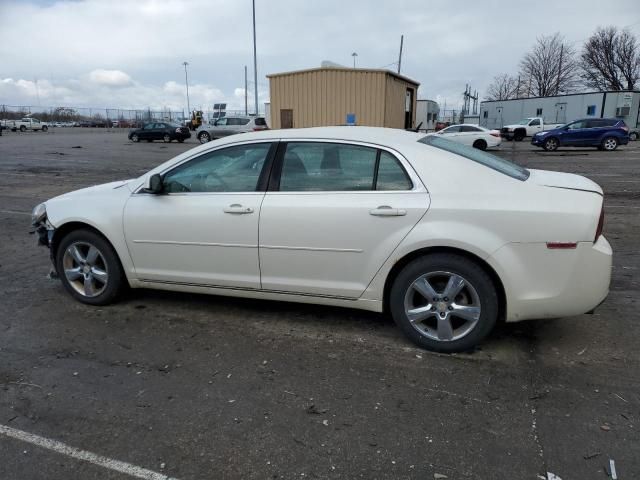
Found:
M 405 314 L 421 335 L 451 342 L 468 335 L 480 320 L 480 297 L 464 277 L 447 271 L 417 278 L 404 298 Z

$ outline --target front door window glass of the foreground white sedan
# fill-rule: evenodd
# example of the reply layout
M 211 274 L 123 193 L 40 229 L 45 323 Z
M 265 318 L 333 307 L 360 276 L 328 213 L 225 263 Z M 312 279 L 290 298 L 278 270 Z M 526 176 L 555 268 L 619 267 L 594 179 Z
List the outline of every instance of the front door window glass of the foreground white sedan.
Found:
M 167 193 L 255 192 L 270 143 L 254 143 L 205 153 L 164 176 Z

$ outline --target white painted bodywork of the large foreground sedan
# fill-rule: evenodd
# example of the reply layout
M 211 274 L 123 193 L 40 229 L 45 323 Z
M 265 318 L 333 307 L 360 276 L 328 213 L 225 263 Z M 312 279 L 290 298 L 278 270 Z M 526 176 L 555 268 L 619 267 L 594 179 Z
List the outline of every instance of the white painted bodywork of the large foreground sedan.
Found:
M 504 286 L 506 318 L 584 313 L 608 293 L 612 252 L 594 243 L 602 190 L 577 175 L 531 170 L 526 181 L 418 143 L 424 134 L 327 127 L 235 135 L 142 177 L 46 202 L 50 223 L 81 222 L 114 246 L 133 287 L 342 305 L 381 311 L 394 265 L 428 248 L 486 262 Z M 154 173 L 237 143 L 330 139 L 393 149 L 420 191 L 136 194 Z M 240 203 L 250 215 L 222 212 Z M 406 210 L 374 217 L 381 205 Z M 221 213 L 222 212 L 222 213 Z M 149 243 L 141 243 L 140 240 Z M 546 242 L 576 242 L 549 250 Z M 167 283 L 175 282 L 175 283 Z

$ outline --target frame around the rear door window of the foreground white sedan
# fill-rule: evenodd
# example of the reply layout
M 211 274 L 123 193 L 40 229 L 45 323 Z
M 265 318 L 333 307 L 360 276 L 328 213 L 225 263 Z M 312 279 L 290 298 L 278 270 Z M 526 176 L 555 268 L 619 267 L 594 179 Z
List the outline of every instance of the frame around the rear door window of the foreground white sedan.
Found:
M 407 177 L 411 181 L 413 187 L 410 190 L 306 190 L 306 191 L 280 191 L 280 178 L 282 176 L 282 166 L 284 163 L 284 154 L 287 149 L 287 145 L 289 143 L 332 143 L 338 145 L 347 145 L 347 146 L 355 146 L 355 147 L 367 147 L 377 150 L 376 153 L 376 169 L 374 171 L 374 175 L 377 176 L 378 166 L 380 162 L 380 154 L 381 152 L 389 153 L 396 161 L 400 164 Z M 377 178 L 376 178 L 377 180 Z M 348 140 L 339 140 L 339 139 L 329 139 L 329 138 L 288 138 L 288 139 L 280 139 L 280 144 L 278 145 L 278 150 L 276 152 L 273 165 L 271 167 L 271 176 L 269 178 L 269 184 L 267 186 L 267 193 L 277 193 L 282 195 L 324 195 L 327 193 L 331 194 L 343 194 L 343 195 L 362 195 L 362 194 L 393 194 L 393 193 L 415 193 L 422 192 L 428 193 L 428 190 L 422 183 L 422 180 L 413 169 L 408 160 L 403 157 L 399 152 L 393 150 L 392 148 L 386 147 L 384 145 L 376 145 L 373 143 L 366 142 L 358 142 L 358 141 L 348 141 Z

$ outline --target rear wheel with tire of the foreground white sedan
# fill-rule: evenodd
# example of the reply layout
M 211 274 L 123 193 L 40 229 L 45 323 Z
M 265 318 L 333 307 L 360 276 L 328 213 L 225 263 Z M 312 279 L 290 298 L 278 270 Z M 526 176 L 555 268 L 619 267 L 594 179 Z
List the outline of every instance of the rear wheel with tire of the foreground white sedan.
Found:
M 446 296 L 447 282 L 460 279 L 459 288 L 449 289 L 452 298 Z M 434 296 L 427 300 L 429 292 Z M 391 287 L 389 307 L 396 324 L 416 345 L 436 352 L 462 352 L 478 345 L 493 329 L 498 294 L 491 277 L 473 261 L 456 254 L 433 254 L 402 269 Z M 428 310 L 410 319 L 409 312 L 420 308 Z M 466 318 L 459 316 L 463 312 Z

